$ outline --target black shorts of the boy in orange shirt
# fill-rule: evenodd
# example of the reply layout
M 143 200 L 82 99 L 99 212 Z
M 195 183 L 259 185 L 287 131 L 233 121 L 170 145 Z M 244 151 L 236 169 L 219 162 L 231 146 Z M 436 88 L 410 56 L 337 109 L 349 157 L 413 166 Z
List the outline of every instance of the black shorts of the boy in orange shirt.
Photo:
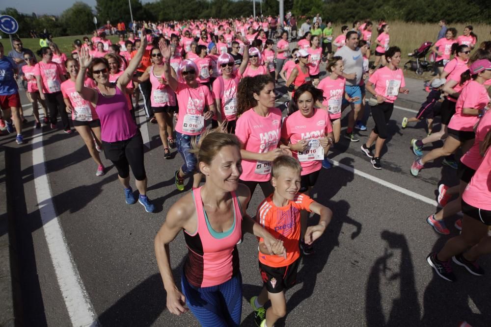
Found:
M 295 285 L 300 258 L 286 267 L 270 267 L 259 261 L 259 271 L 263 278 L 263 285 L 270 293 L 280 293 Z

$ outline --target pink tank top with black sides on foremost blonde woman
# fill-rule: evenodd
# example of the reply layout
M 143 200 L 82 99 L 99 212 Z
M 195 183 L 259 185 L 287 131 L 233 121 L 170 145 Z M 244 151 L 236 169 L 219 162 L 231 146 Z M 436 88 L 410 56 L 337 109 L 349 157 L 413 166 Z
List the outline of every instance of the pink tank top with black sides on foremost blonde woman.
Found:
M 192 191 L 197 226 L 194 234 L 184 231 L 188 257 L 184 274 L 191 285 L 210 287 L 222 284 L 239 273 L 237 242 L 242 237 L 242 209 L 235 192 L 231 192 L 234 223 L 229 230 L 218 233 L 208 222 L 201 200 L 201 187 Z

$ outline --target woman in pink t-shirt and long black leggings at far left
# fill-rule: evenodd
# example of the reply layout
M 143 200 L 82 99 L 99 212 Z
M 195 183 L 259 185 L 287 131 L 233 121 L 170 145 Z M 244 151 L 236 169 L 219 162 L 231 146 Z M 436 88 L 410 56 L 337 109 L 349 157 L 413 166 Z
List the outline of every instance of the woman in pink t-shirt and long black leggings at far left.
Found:
M 53 51 L 48 47 L 43 47 L 37 51 L 37 55 L 42 58 L 34 67 L 34 75 L 36 76 L 37 88 L 39 89 L 39 97 L 46 101 L 50 110 L 51 128 L 56 128 L 56 117 L 58 112 L 63 122 L 63 130 L 65 133 L 72 133 L 68 115 L 66 113 L 65 101 L 61 94 L 61 83 L 65 81 L 63 71 L 53 58 Z

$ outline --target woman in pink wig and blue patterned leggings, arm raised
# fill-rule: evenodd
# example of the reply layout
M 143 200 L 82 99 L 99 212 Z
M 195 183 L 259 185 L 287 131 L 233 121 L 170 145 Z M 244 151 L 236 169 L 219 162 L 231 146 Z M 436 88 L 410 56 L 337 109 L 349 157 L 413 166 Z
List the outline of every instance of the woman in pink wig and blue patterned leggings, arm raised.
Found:
M 164 56 L 164 79 L 176 93 L 179 116 L 176 123 L 177 151 L 181 153 L 184 164 L 174 174 L 176 187 L 184 191 L 184 178 L 193 174 L 193 188 L 199 186 L 201 173 L 196 171 L 196 156 L 191 152 L 191 138 L 199 141 L 205 130 L 205 120 L 215 116 L 217 110 L 210 89 L 198 83 L 198 67 L 191 60 L 183 60 L 177 70 L 177 78 L 172 76 L 170 69 L 171 50 L 164 40 L 160 40 L 159 48 Z M 205 112 L 206 107 L 208 110 Z M 221 123 L 221 116 L 217 117 Z

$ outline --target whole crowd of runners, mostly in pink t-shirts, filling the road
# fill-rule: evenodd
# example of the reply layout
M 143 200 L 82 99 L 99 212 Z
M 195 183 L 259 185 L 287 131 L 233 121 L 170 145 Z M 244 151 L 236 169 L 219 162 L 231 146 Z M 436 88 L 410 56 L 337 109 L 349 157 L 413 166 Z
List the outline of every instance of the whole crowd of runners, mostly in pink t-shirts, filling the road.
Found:
M 436 186 L 441 208 L 427 219 L 438 233 L 449 234 L 445 219 L 463 213 L 456 223 L 462 233 L 427 258 L 439 277 L 454 281 L 451 261 L 481 276 L 476 260 L 491 252 L 491 41 L 478 44 L 472 26 L 458 36 L 444 23 L 432 47 L 437 75 L 427 84 L 428 98 L 401 125 L 427 123 L 421 139 L 410 140 L 413 176 L 439 157 L 457 170 L 457 186 Z M 96 175 L 105 174 L 104 152 L 117 169 L 126 203 L 133 204 L 131 168 L 137 201 L 153 212 L 135 118 L 141 99 L 146 117 L 158 125 L 162 156 L 170 159 L 177 149 L 182 157 L 176 188 L 184 191 L 185 179 L 192 178 L 191 192 L 172 205 L 155 238 L 169 311 L 190 309 L 203 326 L 239 326 L 237 244 L 249 232 L 259 240 L 264 283 L 250 304 L 257 326 L 272 327 L 286 314 L 284 291 L 296 281 L 300 254 L 314 253 L 313 242 L 332 218 L 329 208 L 309 196 L 321 170 L 331 168 L 328 152 L 341 137 L 360 141 L 355 130 L 367 129 L 368 104 L 375 127 L 358 144 L 373 168 L 382 169 L 394 101 L 409 92 L 401 50 L 391 43 L 386 22 L 355 21 L 340 31 L 331 25 L 319 15 L 313 25 L 307 19 L 289 30 L 277 29 L 272 17 L 152 24 L 120 33 L 115 44 L 94 31 L 91 38 L 74 40 L 70 56 L 53 42 L 33 53 L 14 38 L 8 55 L 0 44 L 0 128 L 16 132 L 16 142 L 24 143 L 19 76 L 35 128 L 59 128 L 59 115 L 65 133 L 73 127 L 82 137 Z M 289 101 L 278 108 L 279 86 L 286 86 Z M 433 129 L 436 116 L 439 131 Z M 423 153 L 424 145 L 439 140 L 441 148 Z M 456 153 L 463 155 L 458 159 Z M 249 208 L 257 186 L 265 200 Z M 320 220 L 307 227 L 310 212 Z M 179 288 L 168 245 L 181 230 L 189 254 Z

